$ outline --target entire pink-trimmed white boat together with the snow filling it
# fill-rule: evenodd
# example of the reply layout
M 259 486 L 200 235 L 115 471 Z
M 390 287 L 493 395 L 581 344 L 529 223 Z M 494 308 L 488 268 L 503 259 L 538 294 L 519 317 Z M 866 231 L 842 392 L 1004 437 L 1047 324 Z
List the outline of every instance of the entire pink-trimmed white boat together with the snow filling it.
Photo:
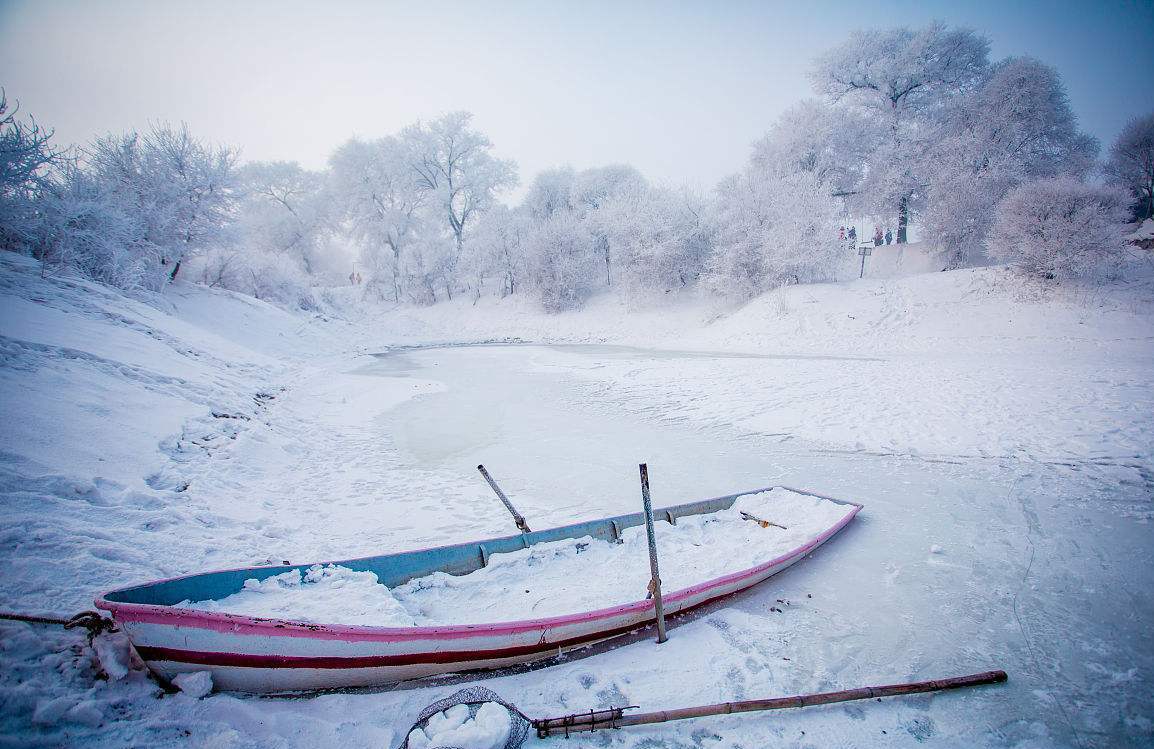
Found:
M 741 522 L 745 508 L 770 525 Z M 666 614 L 780 572 L 861 508 L 770 487 L 655 510 Z M 203 572 L 111 591 L 96 606 L 162 677 L 209 671 L 224 690 L 372 687 L 499 668 L 651 623 L 643 524 L 637 512 L 324 566 Z M 587 574 L 575 575 L 583 566 Z M 367 587 L 387 606 L 366 604 Z M 342 611 L 342 598 L 355 605 Z

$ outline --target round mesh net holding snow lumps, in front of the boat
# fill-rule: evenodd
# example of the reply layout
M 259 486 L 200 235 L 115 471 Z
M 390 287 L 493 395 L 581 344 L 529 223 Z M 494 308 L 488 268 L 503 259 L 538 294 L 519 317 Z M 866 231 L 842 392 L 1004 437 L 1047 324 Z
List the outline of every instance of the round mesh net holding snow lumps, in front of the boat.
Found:
M 454 710 L 458 705 L 469 710 L 467 717 L 463 710 Z M 508 716 L 508 735 L 503 743 L 500 743 L 500 710 Z M 530 726 L 531 719 L 517 710 L 516 705 L 501 699 L 496 692 L 485 687 L 470 687 L 422 710 L 397 749 L 473 749 L 477 746 L 486 749 L 517 749 L 529 735 Z M 440 740 L 441 736 L 451 740 L 454 736 L 459 739 L 465 735 L 470 735 L 467 743 L 443 743 Z

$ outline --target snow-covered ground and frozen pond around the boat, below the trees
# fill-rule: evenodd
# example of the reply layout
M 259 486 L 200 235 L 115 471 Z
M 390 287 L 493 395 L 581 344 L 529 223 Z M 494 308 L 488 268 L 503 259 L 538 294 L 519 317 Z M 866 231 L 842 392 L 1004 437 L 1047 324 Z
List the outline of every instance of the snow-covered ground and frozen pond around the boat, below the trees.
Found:
M 547 716 L 1010 682 L 565 746 L 1151 742 L 1154 290 L 1131 278 L 1040 290 L 986 268 L 737 309 L 511 298 L 340 320 L 187 285 L 130 300 L 0 254 L 0 609 L 508 532 L 478 463 L 534 527 L 634 511 L 647 462 L 658 504 L 786 484 L 865 509 L 664 645 L 469 683 Z M 507 339 L 559 345 L 400 349 Z M 0 742 L 389 747 L 460 686 L 160 698 L 96 680 L 83 642 L 0 626 Z

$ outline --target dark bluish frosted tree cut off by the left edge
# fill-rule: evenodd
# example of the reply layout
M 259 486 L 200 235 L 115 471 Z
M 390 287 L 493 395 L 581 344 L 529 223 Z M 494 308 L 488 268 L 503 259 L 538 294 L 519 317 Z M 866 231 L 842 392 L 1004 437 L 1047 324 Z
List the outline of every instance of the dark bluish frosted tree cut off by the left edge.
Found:
M 0 89 L 0 249 L 35 252 L 42 231 L 37 200 L 61 153 L 52 144 L 52 132 L 9 107 Z

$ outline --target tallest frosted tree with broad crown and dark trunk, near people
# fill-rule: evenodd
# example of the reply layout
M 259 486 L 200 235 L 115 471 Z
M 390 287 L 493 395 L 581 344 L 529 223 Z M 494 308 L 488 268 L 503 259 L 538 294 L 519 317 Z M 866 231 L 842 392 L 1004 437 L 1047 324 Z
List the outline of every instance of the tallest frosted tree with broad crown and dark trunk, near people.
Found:
M 924 199 L 928 123 L 945 98 L 981 82 L 988 55 L 984 37 L 934 23 L 855 31 L 817 60 L 817 91 L 877 118 L 884 127 L 885 137 L 868 160 L 861 197 L 870 212 L 897 214 L 899 242 L 906 241 L 911 214 Z

